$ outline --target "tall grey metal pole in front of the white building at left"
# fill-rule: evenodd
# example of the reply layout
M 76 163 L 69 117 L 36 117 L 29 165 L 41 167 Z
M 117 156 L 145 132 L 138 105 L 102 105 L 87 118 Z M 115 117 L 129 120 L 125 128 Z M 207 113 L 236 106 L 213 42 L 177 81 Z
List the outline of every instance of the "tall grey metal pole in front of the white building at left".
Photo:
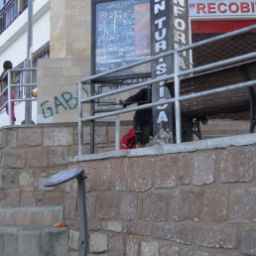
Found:
M 31 51 L 31 44 L 32 44 L 32 8 L 33 8 L 33 0 L 28 0 L 28 29 L 27 29 L 27 68 L 31 68 L 31 61 L 30 61 L 30 51 Z M 26 82 L 31 83 L 31 70 L 27 71 Z M 26 87 L 26 98 L 31 98 L 31 87 Z M 25 103 L 25 120 L 24 124 L 31 124 L 32 123 L 32 104 L 31 101 L 26 101 Z

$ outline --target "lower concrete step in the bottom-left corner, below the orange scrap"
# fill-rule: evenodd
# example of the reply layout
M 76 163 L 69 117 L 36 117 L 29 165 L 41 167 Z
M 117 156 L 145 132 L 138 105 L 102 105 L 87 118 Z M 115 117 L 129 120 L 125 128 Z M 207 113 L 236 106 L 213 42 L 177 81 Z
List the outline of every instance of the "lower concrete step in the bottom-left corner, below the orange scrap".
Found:
M 1 256 L 67 256 L 66 227 L 0 225 Z

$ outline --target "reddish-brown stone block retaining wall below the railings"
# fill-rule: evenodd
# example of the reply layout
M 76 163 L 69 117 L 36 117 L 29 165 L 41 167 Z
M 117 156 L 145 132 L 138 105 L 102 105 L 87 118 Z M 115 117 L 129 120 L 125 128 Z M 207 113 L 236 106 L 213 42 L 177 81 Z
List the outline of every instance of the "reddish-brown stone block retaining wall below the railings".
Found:
M 111 149 L 113 127 L 98 129 L 98 151 Z M 80 167 L 87 175 L 90 255 L 256 254 L 256 143 L 68 162 L 75 130 L 72 124 L 0 130 L 1 207 L 64 205 L 70 255 L 77 255 L 76 181 L 42 183 Z

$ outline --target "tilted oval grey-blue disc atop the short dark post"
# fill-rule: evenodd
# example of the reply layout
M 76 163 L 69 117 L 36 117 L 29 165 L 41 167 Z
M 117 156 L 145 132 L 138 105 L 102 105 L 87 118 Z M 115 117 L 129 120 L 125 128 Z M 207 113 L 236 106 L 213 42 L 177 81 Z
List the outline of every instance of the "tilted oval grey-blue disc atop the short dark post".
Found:
M 56 175 L 49 177 L 43 183 L 43 185 L 45 187 L 54 187 L 54 186 L 63 184 L 65 182 L 70 181 L 73 178 L 76 178 L 81 172 L 82 170 L 79 168 L 64 170 Z

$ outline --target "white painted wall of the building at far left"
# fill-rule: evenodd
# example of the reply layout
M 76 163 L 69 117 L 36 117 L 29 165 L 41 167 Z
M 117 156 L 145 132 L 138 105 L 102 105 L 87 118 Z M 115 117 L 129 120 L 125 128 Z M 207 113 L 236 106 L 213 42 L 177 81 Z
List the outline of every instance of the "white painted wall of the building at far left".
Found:
M 33 1 L 33 42 L 32 51 L 50 41 L 50 0 Z M 9 60 L 14 66 L 21 64 L 27 58 L 27 20 L 26 9 L 8 28 L 0 35 L 0 72 L 2 64 Z M 21 124 L 25 118 L 25 103 L 15 104 L 16 124 Z M 32 119 L 37 123 L 37 102 L 32 103 Z M 0 112 L 0 127 L 9 125 L 5 110 Z

